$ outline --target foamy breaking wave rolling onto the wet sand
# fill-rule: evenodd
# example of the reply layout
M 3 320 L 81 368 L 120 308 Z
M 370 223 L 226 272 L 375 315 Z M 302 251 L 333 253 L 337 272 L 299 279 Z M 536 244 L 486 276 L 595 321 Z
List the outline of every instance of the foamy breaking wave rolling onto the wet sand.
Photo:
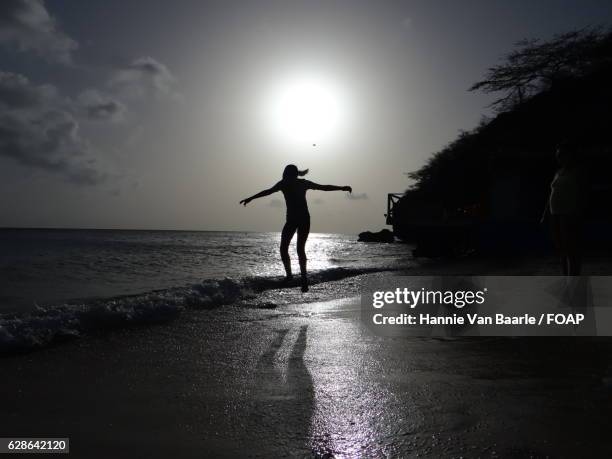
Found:
M 311 284 L 379 272 L 376 268 L 331 268 L 310 276 Z M 0 316 L 0 353 L 41 348 L 92 330 L 165 322 L 189 308 L 214 308 L 286 287 L 280 277 L 207 279 L 187 287 L 157 290 L 106 300 L 36 308 Z

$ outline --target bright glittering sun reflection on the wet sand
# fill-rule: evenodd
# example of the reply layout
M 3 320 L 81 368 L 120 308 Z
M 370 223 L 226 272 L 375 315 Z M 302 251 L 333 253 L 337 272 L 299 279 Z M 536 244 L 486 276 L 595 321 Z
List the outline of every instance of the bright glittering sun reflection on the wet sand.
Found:
M 367 344 L 359 323 L 342 320 L 338 326 L 334 322 L 312 329 L 306 353 L 307 361 L 316 362 L 319 369 L 312 376 L 312 452 L 318 457 L 384 456 L 391 452 L 390 440 L 402 424 L 386 419 L 387 407 L 397 400 L 369 376 L 379 374 L 383 363 L 362 352 Z

